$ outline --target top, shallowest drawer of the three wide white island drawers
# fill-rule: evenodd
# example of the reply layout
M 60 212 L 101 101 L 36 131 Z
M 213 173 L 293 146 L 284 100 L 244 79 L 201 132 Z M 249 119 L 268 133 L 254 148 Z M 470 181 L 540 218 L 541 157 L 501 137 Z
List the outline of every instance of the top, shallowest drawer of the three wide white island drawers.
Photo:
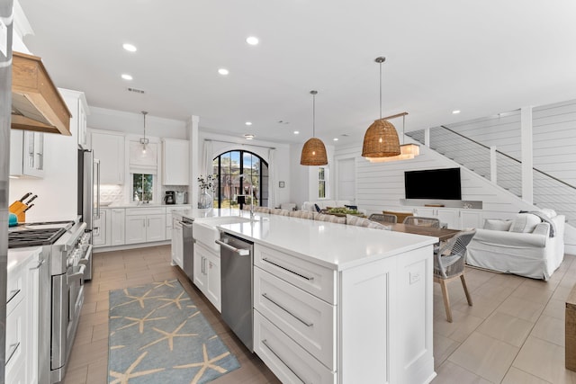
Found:
M 336 305 L 336 271 L 275 249 L 254 245 L 254 264 Z

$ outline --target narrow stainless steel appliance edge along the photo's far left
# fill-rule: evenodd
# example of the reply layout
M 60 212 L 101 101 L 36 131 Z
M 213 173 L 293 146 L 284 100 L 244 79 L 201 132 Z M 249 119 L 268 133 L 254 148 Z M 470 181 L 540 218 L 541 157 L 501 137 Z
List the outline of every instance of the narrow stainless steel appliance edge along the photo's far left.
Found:
M 10 119 L 12 112 L 13 1 L 0 1 L 0 378 L 4 380 L 6 329 L 6 265 L 8 263 L 8 173 L 10 163 Z

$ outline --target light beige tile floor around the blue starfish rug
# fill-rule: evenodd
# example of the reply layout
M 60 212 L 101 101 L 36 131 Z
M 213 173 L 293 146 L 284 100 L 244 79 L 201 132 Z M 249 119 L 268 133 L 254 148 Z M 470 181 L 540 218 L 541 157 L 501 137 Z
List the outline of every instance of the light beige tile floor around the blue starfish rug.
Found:
M 576 283 L 574 260 L 566 255 L 547 282 L 467 269 L 473 307 L 468 306 L 460 282 L 450 283 L 453 323 L 446 322 L 442 293 L 435 284 L 433 383 L 576 384 L 576 372 L 564 368 L 564 302 Z M 85 285 L 85 305 L 64 382 L 106 382 L 109 290 L 177 278 L 241 364 L 212 383 L 278 383 L 169 262 L 169 246 L 94 255 L 94 278 Z

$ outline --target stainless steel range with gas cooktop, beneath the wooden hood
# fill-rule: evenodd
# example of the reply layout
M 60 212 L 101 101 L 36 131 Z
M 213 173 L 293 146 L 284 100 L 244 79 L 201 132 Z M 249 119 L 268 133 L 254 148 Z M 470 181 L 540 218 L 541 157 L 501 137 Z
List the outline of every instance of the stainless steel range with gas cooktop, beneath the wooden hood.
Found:
M 92 258 L 85 223 L 58 221 L 11 228 L 8 247 L 41 246 L 39 382 L 64 379 L 84 303 L 84 272 Z

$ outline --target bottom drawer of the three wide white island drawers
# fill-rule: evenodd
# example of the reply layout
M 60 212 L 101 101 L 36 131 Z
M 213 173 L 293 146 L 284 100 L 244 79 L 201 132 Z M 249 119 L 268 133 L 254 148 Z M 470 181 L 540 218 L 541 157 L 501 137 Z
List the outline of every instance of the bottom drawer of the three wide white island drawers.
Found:
M 336 384 L 336 373 L 254 312 L 254 352 L 284 383 Z

